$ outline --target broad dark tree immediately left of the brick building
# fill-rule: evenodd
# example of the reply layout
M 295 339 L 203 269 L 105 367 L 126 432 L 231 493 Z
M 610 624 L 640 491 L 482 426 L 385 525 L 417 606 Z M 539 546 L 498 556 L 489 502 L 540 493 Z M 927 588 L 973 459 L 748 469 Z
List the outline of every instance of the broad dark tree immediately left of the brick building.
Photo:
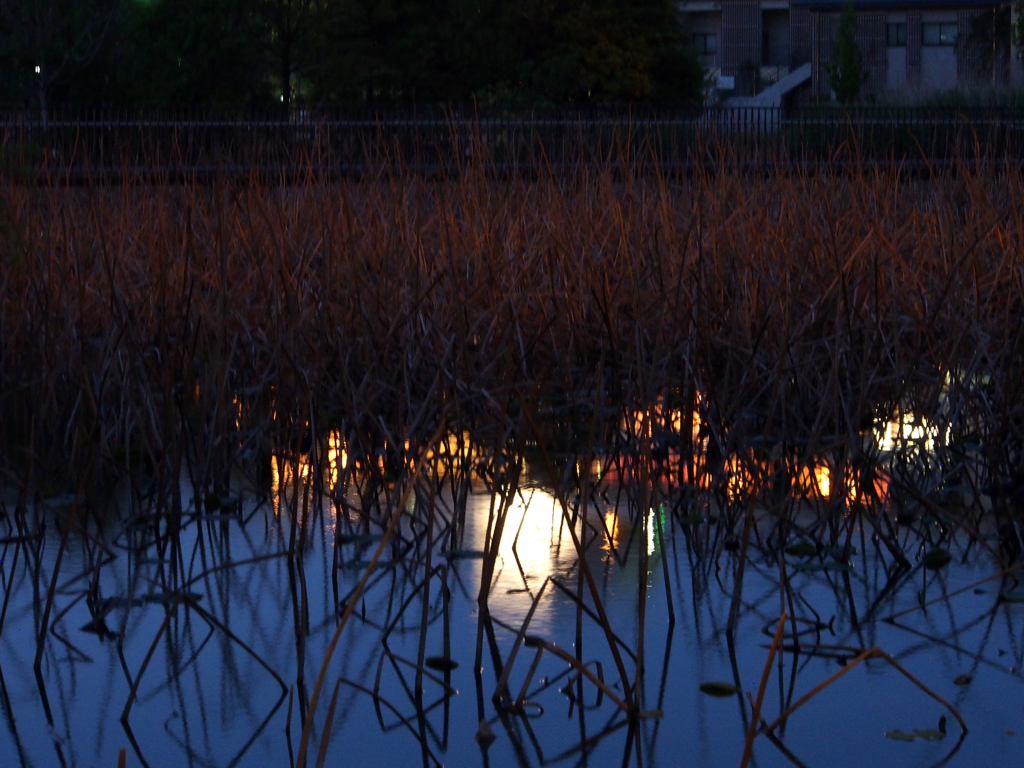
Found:
M 530 103 L 697 98 L 671 0 L 340 0 L 324 90 Z

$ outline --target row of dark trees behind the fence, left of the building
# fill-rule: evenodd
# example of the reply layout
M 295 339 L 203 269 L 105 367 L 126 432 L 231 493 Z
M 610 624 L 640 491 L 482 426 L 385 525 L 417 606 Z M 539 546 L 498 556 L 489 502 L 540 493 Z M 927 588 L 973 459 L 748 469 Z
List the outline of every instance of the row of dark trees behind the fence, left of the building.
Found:
M 699 98 L 703 78 L 673 0 L 7 0 L 0 7 L 18 3 L 62 4 L 75 11 L 60 15 L 65 27 L 90 31 L 88 56 L 63 42 L 80 60 L 47 70 L 45 92 L 61 103 L 667 102 Z M 20 16 L 0 18 L 0 66 L 16 75 L 0 86 L 0 98 L 38 105 L 30 67 L 38 56 L 15 55 L 26 29 Z

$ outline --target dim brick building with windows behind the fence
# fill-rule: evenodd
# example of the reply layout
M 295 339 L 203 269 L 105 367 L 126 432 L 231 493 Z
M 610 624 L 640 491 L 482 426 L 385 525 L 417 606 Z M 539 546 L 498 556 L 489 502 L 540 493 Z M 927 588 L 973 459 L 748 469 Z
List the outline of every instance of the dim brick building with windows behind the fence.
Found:
M 829 95 L 827 66 L 846 0 L 682 0 L 693 47 L 715 79 L 752 96 L 810 63 L 810 95 Z M 862 93 L 918 94 L 1009 83 L 1011 56 L 979 36 L 999 0 L 857 0 Z M 806 86 L 805 86 L 806 87 Z

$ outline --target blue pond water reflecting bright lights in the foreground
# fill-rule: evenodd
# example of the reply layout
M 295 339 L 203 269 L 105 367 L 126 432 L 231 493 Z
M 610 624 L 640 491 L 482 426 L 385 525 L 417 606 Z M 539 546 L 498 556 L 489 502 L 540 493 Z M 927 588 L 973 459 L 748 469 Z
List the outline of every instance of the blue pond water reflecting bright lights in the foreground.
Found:
M 326 471 L 337 480 L 347 457 L 336 437 L 327 446 Z M 443 478 L 410 497 L 409 518 L 328 664 L 307 765 L 326 743 L 325 765 L 738 766 L 783 610 L 764 721 L 849 672 L 771 737 L 758 735 L 751 764 L 1020 764 L 1024 592 L 1015 574 L 1024 571 L 1005 570 L 994 534 L 969 538 L 941 518 L 883 510 L 909 562 L 901 567 L 873 526 L 843 527 L 851 505 L 822 514 L 804 499 L 792 518 L 807 534 L 803 544 L 773 547 L 774 522 L 755 514 L 743 557 L 743 537 L 734 535 L 742 524 L 726 532 L 732 500 L 716 506 L 698 495 L 685 513 L 665 501 L 638 506 L 627 502 L 637 487 L 629 472 L 592 461 L 589 511 L 567 510 L 592 587 L 558 492 L 528 462 L 513 485 L 475 476 L 458 504 Z M 113 766 L 122 749 L 128 765 L 295 764 L 339 615 L 386 518 L 364 516 L 366 500 L 351 488 L 339 496 L 333 483 L 318 499 L 327 503 L 310 504 L 309 486 L 294 481 L 308 476 L 308 462 L 272 468 L 268 494 L 238 478 L 239 498 L 207 500 L 221 508 L 185 515 L 176 531 L 98 515 L 90 536 L 73 531 L 38 673 L 58 521 L 73 503 L 46 500 L 40 536 L 19 535 L 5 507 L 4 765 Z M 818 472 L 818 495 L 835 499 L 827 482 Z M 293 527 L 303 509 L 304 526 Z M 433 520 L 429 535 L 416 520 Z M 842 547 L 822 544 L 828 530 L 848 536 Z M 489 536 L 497 549 L 485 557 Z M 929 555 L 936 551 L 938 559 Z M 480 581 L 492 567 L 481 611 Z M 425 594 L 417 588 L 428 572 Z M 874 647 L 907 674 L 883 657 L 850 666 Z M 496 696 L 506 667 L 506 693 Z M 725 695 L 702 690 L 708 683 Z M 639 717 L 613 700 L 627 698 L 627 687 Z

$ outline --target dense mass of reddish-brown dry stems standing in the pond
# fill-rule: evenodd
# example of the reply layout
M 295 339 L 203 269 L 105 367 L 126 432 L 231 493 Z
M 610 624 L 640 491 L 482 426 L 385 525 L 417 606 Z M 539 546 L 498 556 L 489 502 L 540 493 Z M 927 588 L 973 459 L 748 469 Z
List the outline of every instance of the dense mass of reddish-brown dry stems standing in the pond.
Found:
M 739 551 L 730 628 L 755 548 L 803 543 L 825 567 L 826 548 L 848 554 L 866 528 L 902 578 L 918 561 L 898 527 L 928 513 L 942 524 L 936 546 L 957 529 L 985 546 L 984 529 L 1008 565 L 1019 557 L 1005 525 L 1024 486 L 1019 169 L 924 179 L 898 167 L 687 178 L 644 168 L 0 181 L 0 482 L 17 499 L 15 565 L 32 556 L 36 502 L 82 488 L 84 512 L 67 524 L 85 529 L 125 486 L 129 519 L 180 563 L 180 526 L 227 506 L 244 473 L 258 493 L 280 490 L 300 584 L 296 555 L 325 504 L 351 520 L 349 543 L 384 531 L 378 574 L 348 595 L 337 594 L 347 545 L 335 542 L 339 633 L 396 562 L 423 567 L 425 625 L 430 580 L 444 572 L 432 558 L 456 551 L 466 497 L 483 482 L 497 493 L 479 668 L 505 515 L 528 465 L 555 490 L 581 563 L 575 594 L 555 587 L 581 624 L 603 630 L 621 692 L 565 643 L 538 647 L 635 720 L 642 629 L 639 647 L 623 643 L 585 560 L 602 495 L 615 494 L 631 537 L 653 524 L 664 549 L 663 526 L 678 524 L 707 562 Z M 409 510 L 421 470 L 430 498 Z M 651 523 L 651 510 L 665 519 Z M 177 595 L 189 582 L 173 572 Z M 48 611 L 40 653 L 47 623 Z M 308 699 L 300 672 L 300 764 L 330 652 L 322 660 Z M 318 762 L 330 725 L 323 733 Z

